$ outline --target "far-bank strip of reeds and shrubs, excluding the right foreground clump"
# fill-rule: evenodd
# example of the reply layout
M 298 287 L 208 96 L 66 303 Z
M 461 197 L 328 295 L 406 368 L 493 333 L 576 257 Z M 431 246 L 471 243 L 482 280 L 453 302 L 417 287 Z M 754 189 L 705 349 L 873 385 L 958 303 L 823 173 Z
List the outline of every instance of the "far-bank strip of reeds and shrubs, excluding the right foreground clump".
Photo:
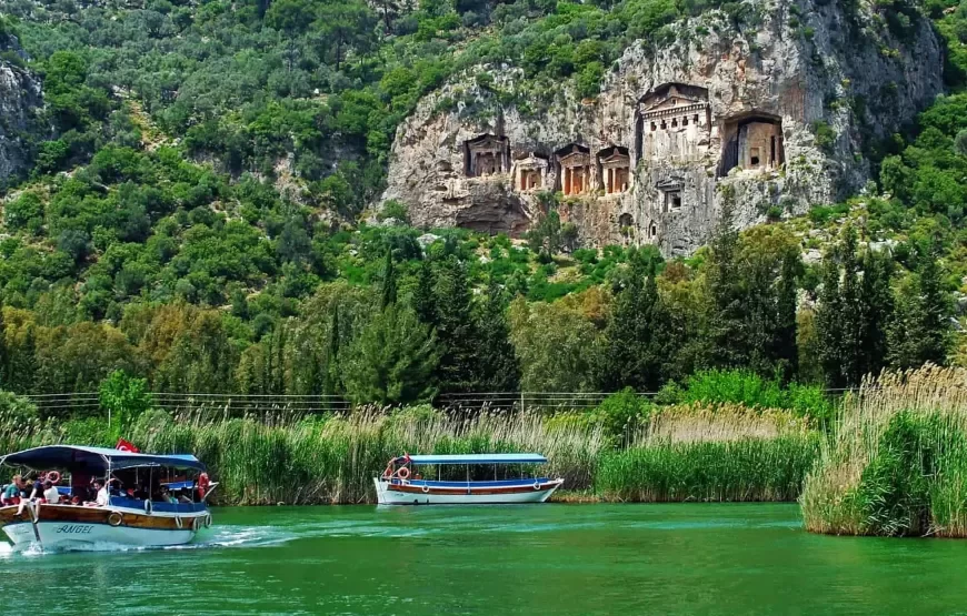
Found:
M 137 406 L 138 396 L 122 395 L 131 387 L 129 381 L 113 398 Z M 0 450 L 110 446 L 123 436 L 144 451 L 190 452 L 221 482 L 222 505 L 375 503 L 372 477 L 403 452 L 530 451 L 548 457 L 539 473 L 565 478 L 558 501 L 794 501 L 818 446 L 813 414 L 830 412 L 815 388 L 780 388 L 739 371 L 697 375 L 666 388 L 660 404 L 627 390 L 567 412 L 369 405 L 232 417 L 211 410 L 172 415 L 141 403 L 147 410 L 137 415 L 116 408 L 109 426 L 103 418 L 30 416 L 16 404 L 22 400 L 9 396 L 0 412 Z

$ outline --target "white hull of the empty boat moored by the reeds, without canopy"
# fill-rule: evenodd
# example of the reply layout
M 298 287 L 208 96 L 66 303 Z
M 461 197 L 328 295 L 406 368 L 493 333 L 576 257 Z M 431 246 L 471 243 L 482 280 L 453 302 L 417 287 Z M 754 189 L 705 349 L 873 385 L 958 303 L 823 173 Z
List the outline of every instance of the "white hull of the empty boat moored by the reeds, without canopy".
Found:
M 475 483 L 440 485 L 439 482 L 388 482 L 377 477 L 380 505 L 515 505 L 544 503 L 564 484 L 564 479 L 488 485 Z

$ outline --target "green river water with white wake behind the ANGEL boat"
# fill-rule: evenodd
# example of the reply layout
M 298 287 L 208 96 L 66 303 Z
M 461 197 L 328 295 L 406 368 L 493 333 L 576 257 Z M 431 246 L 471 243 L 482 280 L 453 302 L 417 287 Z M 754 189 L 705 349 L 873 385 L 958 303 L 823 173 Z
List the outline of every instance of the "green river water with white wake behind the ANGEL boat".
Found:
M 180 548 L 0 546 L 3 613 L 967 614 L 967 541 L 810 535 L 795 505 L 222 508 L 215 521 Z

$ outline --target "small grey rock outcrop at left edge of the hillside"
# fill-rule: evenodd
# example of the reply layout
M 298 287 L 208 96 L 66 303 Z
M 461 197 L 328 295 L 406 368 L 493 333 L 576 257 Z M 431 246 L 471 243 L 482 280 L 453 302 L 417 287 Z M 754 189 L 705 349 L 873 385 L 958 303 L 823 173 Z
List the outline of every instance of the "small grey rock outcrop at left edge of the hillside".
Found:
M 0 41 L 0 49 L 4 48 L 16 49 L 16 41 Z M 36 130 L 41 104 L 40 81 L 0 60 L 0 185 L 27 168 L 26 140 Z

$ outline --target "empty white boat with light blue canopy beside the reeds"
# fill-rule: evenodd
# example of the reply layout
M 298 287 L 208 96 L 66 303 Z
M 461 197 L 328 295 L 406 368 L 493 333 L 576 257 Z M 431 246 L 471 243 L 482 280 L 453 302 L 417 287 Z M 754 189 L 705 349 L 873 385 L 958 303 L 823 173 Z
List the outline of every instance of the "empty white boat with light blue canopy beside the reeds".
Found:
M 402 455 L 389 461 L 382 476 L 373 481 L 380 505 L 544 503 L 564 484 L 562 478 L 537 474 L 507 478 L 507 475 L 515 467 L 545 463 L 547 458 L 539 454 Z M 427 466 L 428 474 L 436 474 L 436 479 L 423 478 L 418 472 Z M 485 475 L 487 478 L 481 478 Z

